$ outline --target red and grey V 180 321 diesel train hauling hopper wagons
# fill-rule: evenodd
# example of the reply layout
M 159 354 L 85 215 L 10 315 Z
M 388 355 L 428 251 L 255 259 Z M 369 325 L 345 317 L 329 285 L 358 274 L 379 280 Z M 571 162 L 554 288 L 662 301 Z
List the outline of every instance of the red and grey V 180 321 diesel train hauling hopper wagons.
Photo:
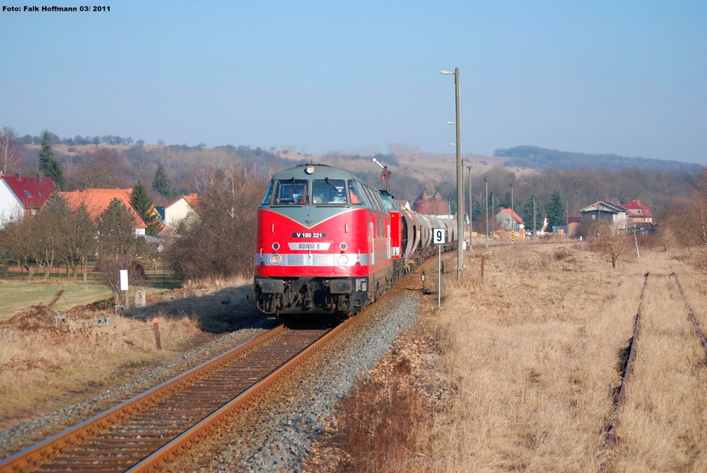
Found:
M 418 214 L 346 170 L 303 164 L 275 173 L 257 208 L 253 292 L 267 315 L 351 315 L 421 259 L 457 244 L 455 220 Z

